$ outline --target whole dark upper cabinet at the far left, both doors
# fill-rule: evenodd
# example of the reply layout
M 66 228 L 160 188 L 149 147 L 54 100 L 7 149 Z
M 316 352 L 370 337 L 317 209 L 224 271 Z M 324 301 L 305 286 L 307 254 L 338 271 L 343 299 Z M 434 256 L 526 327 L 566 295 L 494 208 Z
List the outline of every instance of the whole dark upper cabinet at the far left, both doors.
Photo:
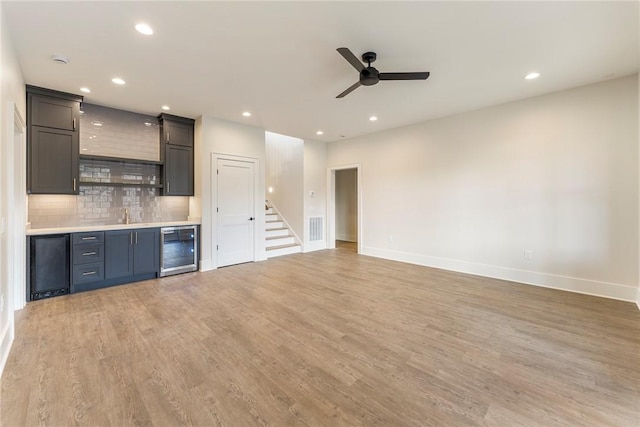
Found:
M 27 191 L 78 194 L 82 97 L 27 85 Z

